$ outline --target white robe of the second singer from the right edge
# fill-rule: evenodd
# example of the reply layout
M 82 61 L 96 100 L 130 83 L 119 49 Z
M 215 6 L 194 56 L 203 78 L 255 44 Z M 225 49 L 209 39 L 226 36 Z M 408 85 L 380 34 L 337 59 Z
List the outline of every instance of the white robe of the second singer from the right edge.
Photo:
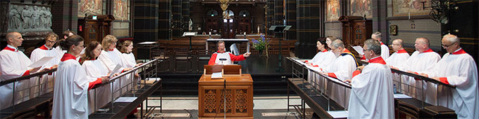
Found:
M 433 69 L 434 64 L 437 63 L 441 59 L 440 55 L 434 52 L 433 50 L 429 49 L 424 52 L 414 51 L 411 57 L 406 60 L 402 66 L 398 66 L 397 68 L 402 71 L 413 71 L 413 72 L 421 72 L 421 71 L 429 71 Z M 419 100 L 423 100 L 423 93 L 421 90 L 421 85 L 423 85 L 423 80 L 415 80 L 413 77 L 410 76 L 403 76 L 402 78 L 409 80 L 408 85 L 411 85 L 409 89 L 404 87 L 403 89 L 406 90 L 404 93 L 411 97 L 415 97 Z M 425 81 L 424 81 L 425 82 Z M 414 88 L 418 87 L 418 89 Z M 429 87 L 429 88 L 428 88 Z M 428 83 L 423 85 L 423 89 L 425 90 L 425 102 L 429 104 L 436 105 L 437 102 L 434 102 L 435 95 L 437 93 L 437 85 L 433 83 Z M 417 94 L 417 97 L 416 97 Z M 434 98 L 430 98 L 434 97 Z

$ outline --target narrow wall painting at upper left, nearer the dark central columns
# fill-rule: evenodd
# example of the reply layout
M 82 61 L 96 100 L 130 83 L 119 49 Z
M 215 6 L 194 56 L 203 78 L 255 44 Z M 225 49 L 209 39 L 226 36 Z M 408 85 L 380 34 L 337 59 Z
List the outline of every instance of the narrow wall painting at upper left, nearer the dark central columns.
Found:
M 113 1 L 113 16 L 116 20 L 130 20 L 130 0 Z

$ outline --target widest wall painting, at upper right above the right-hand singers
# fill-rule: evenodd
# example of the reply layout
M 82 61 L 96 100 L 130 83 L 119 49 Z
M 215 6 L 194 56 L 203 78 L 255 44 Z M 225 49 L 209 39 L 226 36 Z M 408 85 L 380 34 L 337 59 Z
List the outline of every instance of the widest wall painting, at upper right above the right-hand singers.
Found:
M 424 6 L 430 6 L 431 1 L 428 0 L 393 0 L 392 1 L 392 16 L 409 16 L 409 15 L 428 15 L 430 8 L 424 8 Z

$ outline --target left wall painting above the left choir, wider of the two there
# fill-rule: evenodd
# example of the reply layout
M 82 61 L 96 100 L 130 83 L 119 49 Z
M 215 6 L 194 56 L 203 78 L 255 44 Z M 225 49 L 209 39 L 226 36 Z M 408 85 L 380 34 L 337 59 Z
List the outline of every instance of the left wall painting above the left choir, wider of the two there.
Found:
M 78 0 L 78 17 L 87 15 L 101 15 L 103 9 L 102 0 Z

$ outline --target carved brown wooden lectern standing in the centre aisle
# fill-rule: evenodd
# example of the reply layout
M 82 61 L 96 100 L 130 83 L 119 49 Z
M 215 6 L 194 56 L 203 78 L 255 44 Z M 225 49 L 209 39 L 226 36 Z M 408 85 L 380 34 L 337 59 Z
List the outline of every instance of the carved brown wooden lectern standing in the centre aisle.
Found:
M 253 118 L 253 79 L 241 73 L 241 65 L 223 65 L 223 78 L 211 78 L 213 65 L 204 65 L 198 80 L 198 118 Z M 226 94 L 224 88 L 226 82 Z

